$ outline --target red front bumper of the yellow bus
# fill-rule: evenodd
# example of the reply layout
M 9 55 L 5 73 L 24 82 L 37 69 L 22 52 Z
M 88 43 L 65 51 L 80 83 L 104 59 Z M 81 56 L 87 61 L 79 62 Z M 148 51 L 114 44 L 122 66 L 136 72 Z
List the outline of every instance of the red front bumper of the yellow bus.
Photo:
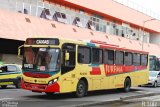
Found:
M 25 90 L 31 90 L 33 92 L 60 92 L 60 86 L 57 82 L 48 85 L 48 84 L 33 84 L 27 83 L 21 80 L 21 87 Z

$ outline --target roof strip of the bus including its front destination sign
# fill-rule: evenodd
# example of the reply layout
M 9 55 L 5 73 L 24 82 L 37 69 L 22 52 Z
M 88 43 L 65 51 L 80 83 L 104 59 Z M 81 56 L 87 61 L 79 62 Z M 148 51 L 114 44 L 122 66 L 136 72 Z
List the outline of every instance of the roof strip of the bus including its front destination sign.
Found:
M 87 45 L 90 47 L 100 47 L 103 49 L 106 48 L 111 50 L 120 50 L 120 51 L 127 51 L 127 52 L 133 52 L 133 53 L 148 54 L 148 52 L 146 51 L 120 47 L 119 45 L 109 44 L 107 42 L 99 41 L 99 40 L 71 40 L 71 39 L 64 39 L 64 38 L 34 37 L 34 38 L 27 38 L 25 44 L 26 45 L 59 45 L 60 41 L 63 43 L 69 42 L 69 43 Z

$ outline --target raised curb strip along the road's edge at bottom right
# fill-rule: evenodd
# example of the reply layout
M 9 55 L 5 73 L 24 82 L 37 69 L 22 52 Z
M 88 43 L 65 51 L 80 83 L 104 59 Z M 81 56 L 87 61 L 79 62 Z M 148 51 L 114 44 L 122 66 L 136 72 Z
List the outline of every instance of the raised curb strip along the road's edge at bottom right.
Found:
M 110 103 L 118 103 L 123 102 L 125 100 L 135 99 L 135 98 L 143 98 L 148 96 L 155 96 L 160 95 L 160 93 L 148 93 L 148 94 L 142 94 L 142 95 L 135 95 L 135 96 L 129 96 L 129 97 L 120 97 L 119 99 L 113 99 L 111 101 L 101 101 L 101 102 L 95 102 L 95 103 L 87 103 L 87 104 L 80 104 L 80 105 L 74 105 L 73 107 L 88 107 L 88 106 L 95 106 L 95 105 L 103 105 L 103 104 L 110 104 Z

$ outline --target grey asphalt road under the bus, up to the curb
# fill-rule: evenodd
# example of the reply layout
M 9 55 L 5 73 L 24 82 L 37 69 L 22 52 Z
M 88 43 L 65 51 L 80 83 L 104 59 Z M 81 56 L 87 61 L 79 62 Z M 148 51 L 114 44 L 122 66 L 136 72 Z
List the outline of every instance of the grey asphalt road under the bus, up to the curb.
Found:
M 48 97 L 43 93 L 33 93 L 30 91 L 15 89 L 14 87 L 9 87 L 8 89 L 0 89 L 0 106 L 5 105 L 7 103 L 6 101 L 8 101 L 8 103 L 11 104 L 18 103 L 18 107 L 70 107 L 82 104 L 85 105 L 88 103 L 119 100 L 120 98 L 143 95 L 153 92 L 160 93 L 160 87 L 135 87 L 132 88 L 131 92 L 129 93 L 124 93 L 118 90 L 95 91 L 90 92 L 86 97 L 75 98 L 72 94 L 57 94 L 52 97 Z M 120 103 L 114 102 L 114 104 L 120 106 Z

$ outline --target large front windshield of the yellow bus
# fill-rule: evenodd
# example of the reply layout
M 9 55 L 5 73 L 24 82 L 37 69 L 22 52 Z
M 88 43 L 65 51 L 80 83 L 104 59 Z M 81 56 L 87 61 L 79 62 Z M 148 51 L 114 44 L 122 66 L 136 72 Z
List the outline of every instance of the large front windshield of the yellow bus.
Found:
M 24 48 L 23 69 L 33 71 L 58 71 L 60 69 L 60 49 Z

